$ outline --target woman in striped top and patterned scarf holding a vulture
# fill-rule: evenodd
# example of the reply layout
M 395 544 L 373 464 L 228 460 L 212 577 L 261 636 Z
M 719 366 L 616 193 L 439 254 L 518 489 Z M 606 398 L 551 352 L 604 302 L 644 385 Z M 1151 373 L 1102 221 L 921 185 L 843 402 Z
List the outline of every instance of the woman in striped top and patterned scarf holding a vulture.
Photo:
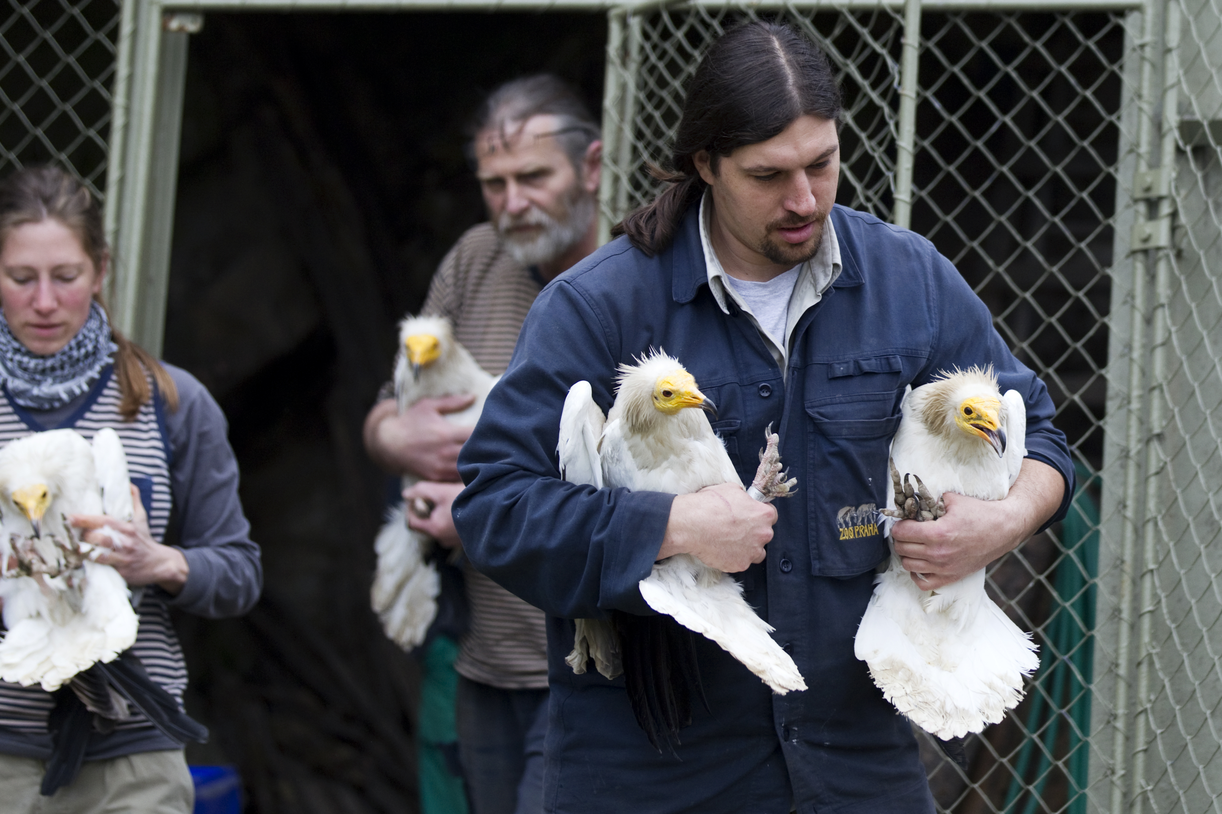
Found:
M 139 627 L 121 659 L 147 674 L 149 693 L 181 709 L 187 670 L 170 608 L 241 615 L 259 598 L 263 571 L 225 416 L 191 373 L 110 325 L 101 299 L 109 260 L 101 209 L 78 179 L 35 167 L 0 182 L 0 445 L 56 428 L 119 434 L 141 498 L 136 516 L 68 520 L 132 589 Z M 97 680 L 78 674 L 54 694 L 0 682 L 0 808 L 191 812 L 183 743 L 134 708 L 117 719 L 84 711 L 94 708 L 82 698 L 105 692 Z M 49 763 L 56 771 L 46 773 Z

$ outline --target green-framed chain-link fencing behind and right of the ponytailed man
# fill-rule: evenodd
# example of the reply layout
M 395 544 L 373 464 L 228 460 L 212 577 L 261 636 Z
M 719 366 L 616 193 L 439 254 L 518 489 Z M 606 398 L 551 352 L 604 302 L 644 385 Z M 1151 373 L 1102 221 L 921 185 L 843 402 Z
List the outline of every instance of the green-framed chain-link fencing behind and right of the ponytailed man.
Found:
M 1069 517 L 990 571 L 1042 666 L 968 771 L 925 742 L 940 807 L 1218 812 L 1222 9 L 1057 9 L 925 4 L 910 127 L 902 5 L 612 15 L 604 217 L 657 190 L 649 164 L 730 26 L 780 18 L 818 41 L 846 95 L 838 201 L 892 220 L 910 183 L 904 216 L 1047 383 L 1079 475 Z

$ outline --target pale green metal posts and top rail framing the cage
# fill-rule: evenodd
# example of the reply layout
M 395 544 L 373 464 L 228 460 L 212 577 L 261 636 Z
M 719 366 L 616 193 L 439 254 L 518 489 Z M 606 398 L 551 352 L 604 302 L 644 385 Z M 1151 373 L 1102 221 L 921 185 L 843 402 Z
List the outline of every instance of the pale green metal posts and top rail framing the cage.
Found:
M 187 43 L 189 33 L 198 31 L 199 15 L 241 11 L 605 12 L 604 183 L 599 193 L 600 238 L 605 242 L 627 203 L 627 184 L 621 173 L 632 161 L 642 21 L 646 12 L 662 6 L 749 6 L 755 11 L 902 10 L 892 212 L 892 222 L 902 227 L 909 225 L 913 203 L 923 11 L 1121 11 L 1128 12 L 1127 37 L 1140 27 L 1140 40 L 1127 43 L 1123 67 L 1125 76 L 1136 74 L 1136 98 L 1122 101 L 1122 117 L 1136 118 L 1136 139 L 1130 161 L 1134 164 L 1132 184 L 1125 176 L 1125 154 L 1123 150 L 1119 154 L 1122 165 L 1113 215 L 1116 253 L 1110 270 L 1114 288 L 1108 317 L 1112 331 L 1108 369 L 1117 376 L 1108 375 L 1108 408 L 1102 425 L 1105 449 L 1111 450 L 1110 456 L 1105 453 L 1103 471 L 1116 474 L 1122 482 L 1119 489 L 1112 483 L 1106 489 L 1121 522 L 1118 585 L 1111 586 L 1116 596 L 1116 631 L 1110 644 L 1114 650 L 1107 654 L 1096 644 L 1096 653 L 1103 657 L 1096 661 L 1096 670 L 1110 669 L 1116 682 L 1110 724 L 1092 726 L 1092 732 L 1106 729 L 1111 737 L 1106 803 L 1096 797 L 1096 793 L 1102 796 L 1103 790 L 1091 790 L 1096 809 L 1106 807 L 1111 814 L 1140 814 L 1147 791 L 1145 762 L 1152 727 L 1151 624 L 1156 611 L 1154 580 L 1160 536 L 1157 519 L 1149 508 L 1158 499 L 1162 465 L 1157 447 L 1166 422 L 1161 409 L 1165 398 L 1157 397 L 1156 391 L 1165 378 L 1169 332 L 1166 311 L 1171 298 L 1174 214 L 1169 168 L 1176 165 L 1177 135 L 1183 138 L 1174 99 L 1178 0 L 759 0 L 749 4 L 733 0 L 122 0 L 105 211 L 108 238 L 116 259 L 109 284 L 117 326 L 150 351 L 160 351 Z M 1134 59 L 1138 63 L 1129 65 Z M 1222 127 L 1217 122 L 1204 126 Z M 1122 142 L 1124 138 L 1122 128 Z M 1132 232 L 1122 228 L 1129 220 L 1133 221 Z M 1121 366 L 1112 367 L 1112 360 Z M 1117 381 L 1121 377 L 1127 380 L 1123 387 Z M 1154 801 L 1150 802 L 1151 808 L 1156 808 Z

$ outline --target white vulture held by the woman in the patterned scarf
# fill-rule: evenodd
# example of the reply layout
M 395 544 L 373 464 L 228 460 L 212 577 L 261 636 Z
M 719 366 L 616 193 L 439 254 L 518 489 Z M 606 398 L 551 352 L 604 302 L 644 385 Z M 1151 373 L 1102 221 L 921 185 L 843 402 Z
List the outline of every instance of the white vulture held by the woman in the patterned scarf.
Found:
M 90 445 L 51 430 L 0 449 L 0 597 L 9 629 L 0 679 L 54 692 L 136 641 L 138 618 L 119 572 L 67 525 L 76 514 L 132 519 L 127 459 L 114 430 Z

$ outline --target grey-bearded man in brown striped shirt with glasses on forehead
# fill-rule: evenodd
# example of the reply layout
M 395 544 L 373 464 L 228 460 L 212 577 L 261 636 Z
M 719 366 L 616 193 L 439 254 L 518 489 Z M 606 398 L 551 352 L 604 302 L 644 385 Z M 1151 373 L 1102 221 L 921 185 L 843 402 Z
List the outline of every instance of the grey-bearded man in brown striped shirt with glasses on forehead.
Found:
M 601 142 L 585 105 L 552 76 L 495 90 L 472 132 L 470 157 L 489 222 L 468 229 L 441 261 L 423 311 L 450 317 L 458 340 L 495 375 L 508 364 L 540 289 L 598 244 Z M 391 472 L 424 478 L 407 497 L 436 506 L 423 520 L 408 515 L 408 525 L 451 548 L 459 544 L 450 515 L 462 491 L 456 464 L 470 430 L 442 414 L 469 404 L 422 399 L 400 416 L 387 398 L 365 421 L 369 454 Z M 463 581 L 470 622 L 453 665 L 458 752 L 472 808 L 534 814 L 543 810 L 544 615 L 469 565 Z M 437 659 L 430 650 L 426 670 Z

